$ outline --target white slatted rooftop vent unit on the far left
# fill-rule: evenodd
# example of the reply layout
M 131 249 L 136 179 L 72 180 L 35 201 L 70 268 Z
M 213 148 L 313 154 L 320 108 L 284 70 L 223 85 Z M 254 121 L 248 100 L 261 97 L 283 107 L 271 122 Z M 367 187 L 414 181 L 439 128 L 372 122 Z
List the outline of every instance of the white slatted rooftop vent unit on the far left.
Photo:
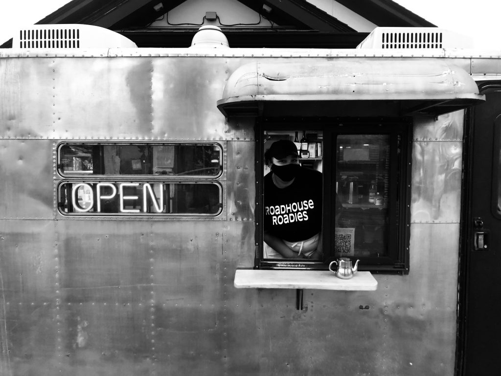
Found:
M 130 39 L 99 26 L 78 24 L 33 25 L 21 29 L 13 48 L 137 48 Z

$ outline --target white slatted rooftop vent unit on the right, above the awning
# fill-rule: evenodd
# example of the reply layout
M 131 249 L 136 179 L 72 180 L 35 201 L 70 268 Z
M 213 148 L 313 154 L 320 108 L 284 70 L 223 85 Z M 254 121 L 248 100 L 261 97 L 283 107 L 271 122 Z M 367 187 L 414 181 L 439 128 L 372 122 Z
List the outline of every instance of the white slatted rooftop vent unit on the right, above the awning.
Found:
M 472 48 L 470 38 L 439 28 L 376 28 L 357 48 L 443 49 Z

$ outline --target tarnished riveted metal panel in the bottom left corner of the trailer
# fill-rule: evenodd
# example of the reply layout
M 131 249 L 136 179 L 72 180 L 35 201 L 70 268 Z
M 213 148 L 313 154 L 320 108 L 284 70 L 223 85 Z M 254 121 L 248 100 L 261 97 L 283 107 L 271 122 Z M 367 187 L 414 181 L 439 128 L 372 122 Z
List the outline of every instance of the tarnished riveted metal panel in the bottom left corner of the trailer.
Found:
M 57 359 L 56 248 L 53 221 L 0 221 L 1 374 L 36 374 Z

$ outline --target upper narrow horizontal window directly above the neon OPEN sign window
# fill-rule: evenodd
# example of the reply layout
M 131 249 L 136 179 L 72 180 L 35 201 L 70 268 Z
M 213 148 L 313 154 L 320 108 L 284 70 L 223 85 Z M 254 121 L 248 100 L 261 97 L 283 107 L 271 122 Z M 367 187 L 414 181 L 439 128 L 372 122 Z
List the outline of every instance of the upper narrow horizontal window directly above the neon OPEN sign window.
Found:
M 62 174 L 218 176 L 222 149 L 215 143 L 67 143 L 60 149 Z

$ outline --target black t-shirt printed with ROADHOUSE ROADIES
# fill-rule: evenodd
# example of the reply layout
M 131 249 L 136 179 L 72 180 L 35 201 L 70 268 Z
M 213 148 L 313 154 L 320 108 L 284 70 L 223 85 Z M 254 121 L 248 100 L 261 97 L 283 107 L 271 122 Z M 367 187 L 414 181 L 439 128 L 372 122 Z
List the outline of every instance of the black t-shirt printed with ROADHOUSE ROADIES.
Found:
M 310 239 L 322 229 L 322 173 L 301 167 L 293 183 L 279 188 L 273 172 L 264 179 L 265 231 L 280 239 Z

